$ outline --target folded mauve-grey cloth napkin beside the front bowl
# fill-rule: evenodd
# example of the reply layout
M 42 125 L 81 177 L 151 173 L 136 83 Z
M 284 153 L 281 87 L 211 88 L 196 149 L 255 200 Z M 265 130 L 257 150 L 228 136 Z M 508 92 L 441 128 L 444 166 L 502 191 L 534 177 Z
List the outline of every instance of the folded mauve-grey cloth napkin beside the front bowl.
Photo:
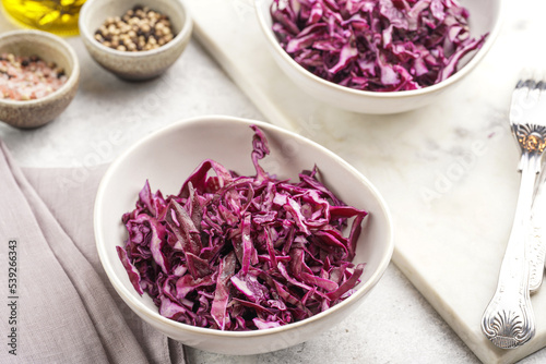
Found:
M 185 363 L 103 270 L 93 204 L 105 170 L 21 169 L 0 141 L 0 363 Z

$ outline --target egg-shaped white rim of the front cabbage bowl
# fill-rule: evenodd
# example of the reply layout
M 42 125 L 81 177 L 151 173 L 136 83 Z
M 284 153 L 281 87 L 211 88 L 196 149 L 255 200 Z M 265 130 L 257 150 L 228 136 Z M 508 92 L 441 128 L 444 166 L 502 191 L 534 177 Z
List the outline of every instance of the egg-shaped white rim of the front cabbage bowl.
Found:
M 173 320 L 170 318 L 164 317 L 159 315 L 157 311 L 150 310 L 147 306 L 145 306 L 141 301 L 139 301 L 130 291 L 130 289 L 121 282 L 120 277 L 118 277 L 115 272 L 111 266 L 109 265 L 109 259 L 108 259 L 108 253 L 107 250 L 111 247 L 107 242 L 104 242 L 102 240 L 102 234 L 100 231 L 103 229 L 102 221 L 100 221 L 100 211 L 103 209 L 103 203 L 104 198 L 103 195 L 105 194 L 105 190 L 107 189 L 108 183 L 110 183 L 110 180 L 112 179 L 112 174 L 115 173 L 116 169 L 118 168 L 119 165 L 122 165 L 124 159 L 133 153 L 133 150 L 141 148 L 143 145 L 145 145 L 149 141 L 161 137 L 162 135 L 169 134 L 171 130 L 178 130 L 188 125 L 192 124 L 200 124 L 210 120 L 222 120 L 225 122 L 232 122 L 232 123 L 239 123 L 239 124 L 256 124 L 259 128 L 263 128 L 266 130 L 273 130 L 275 133 L 278 135 L 285 135 L 289 138 L 295 138 L 298 142 L 301 142 L 304 144 L 310 145 L 312 148 L 320 149 L 321 153 L 324 153 L 325 155 L 329 155 L 332 159 L 337 161 L 344 169 L 353 173 L 355 177 L 357 177 L 358 180 L 361 181 L 363 184 L 365 184 L 368 189 L 369 192 L 373 195 L 373 198 L 376 198 L 378 206 L 382 209 L 382 214 L 385 216 L 385 236 L 387 236 L 387 242 L 385 242 L 385 253 L 384 255 L 379 259 L 377 269 L 373 271 L 373 274 L 365 281 L 361 282 L 357 290 L 347 299 L 344 301 L 337 303 L 336 305 L 328 308 L 327 311 L 323 311 L 317 315 L 313 315 L 311 317 L 308 317 L 306 319 L 302 319 L 300 321 L 296 323 L 290 323 L 288 325 L 283 325 L 280 327 L 274 327 L 274 328 L 266 328 L 266 329 L 260 329 L 260 330 L 251 330 L 251 331 L 223 331 L 218 329 L 212 329 L 212 328 L 203 328 L 203 327 L 197 327 L 183 323 L 179 323 L 176 320 Z M 105 268 L 106 275 L 108 276 L 111 284 L 116 288 L 116 291 L 123 298 L 123 300 L 131 302 L 131 308 L 138 311 L 141 315 L 147 317 L 149 319 L 159 321 L 162 325 L 169 326 L 171 328 L 175 328 L 177 330 L 185 330 L 187 332 L 194 332 L 194 333 L 200 333 L 200 335 L 209 335 L 209 336 L 214 336 L 214 337 L 221 337 L 221 338 L 249 338 L 249 337 L 261 337 L 261 336 L 270 336 L 272 333 L 278 333 L 283 331 L 290 331 L 294 329 L 297 329 L 302 326 L 308 326 L 309 324 L 320 320 L 325 316 L 331 315 L 332 313 L 335 313 L 340 310 L 343 310 L 347 305 L 352 305 L 353 303 L 357 302 L 358 300 L 363 299 L 366 296 L 372 289 L 378 284 L 378 282 L 381 280 L 381 277 L 383 276 L 384 271 L 387 270 L 387 267 L 389 266 L 392 254 L 394 251 L 394 228 L 393 228 L 393 219 L 391 211 L 388 207 L 387 202 L 383 199 L 382 195 L 379 193 L 377 187 L 364 175 L 361 174 L 356 168 L 354 168 L 352 165 L 349 165 L 347 161 L 345 161 L 343 158 L 331 151 L 330 149 L 321 146 L 320 144 L 306 138 L 301 135 L 298 135 L 296 133 L 293 133 L 290 131 L 284 130 L 280 126 L 263 122 L 263 121 L 257 121 L 257 120 L 249 120 L 245 118 L 235 118 L 235 117 L 226 117 L 226 116 L 216 116 L 216 114 L 211 114 L 211 116 L 204 116 L 204 117 L 195 117 L 195 118 L 190 118 L 190 119 L 185 119 L 185 120 L 179 120 L 170 125 L 167 125 L 153 134 L 147 135 L 146 137 L 140 139 L 135 144 L 133 144 L 131 147 L 129 147 L 123 154 L 121 154 L 108 168 L 106 171 L 105 175 L 103 177 L 103 180 L 99 183 L 98 191 L 96 194 L 96 199 L 95 199 L 95 206 L 94 206 L 94 229 L 95 229 L 95 239 L 96 239 L 96 247 L 98 251 L 98 256 L 99 259 L 103 264 L 103 267 Z

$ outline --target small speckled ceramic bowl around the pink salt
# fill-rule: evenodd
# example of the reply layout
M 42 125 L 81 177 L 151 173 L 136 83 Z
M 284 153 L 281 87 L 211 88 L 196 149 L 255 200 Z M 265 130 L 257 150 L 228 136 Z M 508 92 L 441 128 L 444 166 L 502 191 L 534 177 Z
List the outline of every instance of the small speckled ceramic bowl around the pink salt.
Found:
M 75 96 L 80 83 L 78 57 L 63 39 L 40 31 L 14 31 L 0 36 L 0 54 L 38 56 L 64 70 L 67 82 L 56 92 L 38 99 L 0 99 L 0 120 L 20 129 L 41 126 L 57 118 Z

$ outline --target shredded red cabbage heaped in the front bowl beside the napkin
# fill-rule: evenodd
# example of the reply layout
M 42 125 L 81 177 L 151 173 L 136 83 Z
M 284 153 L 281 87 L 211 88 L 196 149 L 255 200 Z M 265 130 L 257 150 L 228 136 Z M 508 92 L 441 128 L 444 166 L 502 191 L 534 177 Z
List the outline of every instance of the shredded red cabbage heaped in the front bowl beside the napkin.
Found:
M 165 317 L 221 330 L 272 328 L 335 305 L 359 282 L 365 264 L 352 260 L 367 213 L 319 182 L 317 167 L 298 183 L 270 175 L 259 165 L 268 139 L 251 128 L 256 175 L 205 160 L 177 195 L 152 193 L 146 181 L 122 217 L 119 258 Z

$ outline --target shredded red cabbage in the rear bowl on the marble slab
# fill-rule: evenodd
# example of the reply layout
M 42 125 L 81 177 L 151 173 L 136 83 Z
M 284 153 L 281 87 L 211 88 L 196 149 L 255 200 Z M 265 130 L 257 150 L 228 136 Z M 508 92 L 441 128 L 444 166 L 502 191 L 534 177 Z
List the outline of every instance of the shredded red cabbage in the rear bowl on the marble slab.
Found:
M 273 0 L 273 32 L 301 66 L 372 92 L 437 84 L 482 48 L 456 0 Z

